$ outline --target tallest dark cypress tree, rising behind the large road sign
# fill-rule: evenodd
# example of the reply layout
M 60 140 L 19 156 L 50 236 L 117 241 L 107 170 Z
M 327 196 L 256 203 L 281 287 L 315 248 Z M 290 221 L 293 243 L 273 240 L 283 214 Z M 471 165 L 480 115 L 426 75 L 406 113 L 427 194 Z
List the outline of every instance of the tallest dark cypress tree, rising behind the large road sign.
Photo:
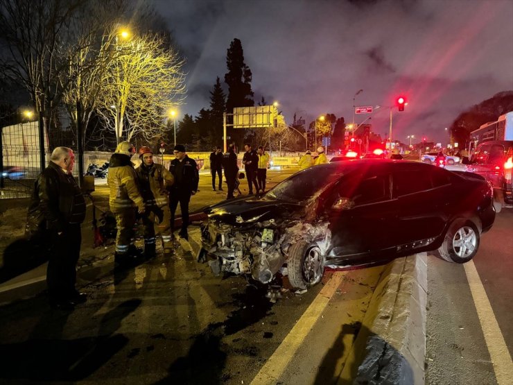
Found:
M 228 98 L 226 111 L 232 113 L 234 107 L 248 107 L 254 105 L 253 91 L 251 89 L 251 69 L 244 62 L 244 51 L 241 40 L 234 39 L 229 45 L 226 56 L 228 72 L 225 74 L 225 83 L 228 85 Z M 231 128 L 229 136 L 232 141 L 242 148 L 244 130 Z

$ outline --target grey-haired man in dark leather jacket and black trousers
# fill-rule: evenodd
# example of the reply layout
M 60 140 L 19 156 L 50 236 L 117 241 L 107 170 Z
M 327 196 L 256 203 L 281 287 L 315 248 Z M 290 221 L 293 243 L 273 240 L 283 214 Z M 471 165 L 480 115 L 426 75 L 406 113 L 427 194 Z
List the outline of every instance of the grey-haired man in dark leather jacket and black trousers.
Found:
M 46 283 L 50 305 L 72 310 L 85 302 L 85 293 L 75 289 L 76 264 L 80 257 L 82 233 L 80 224 L 85 219 L 85 199 L 71 175 L 75 155 L 71 148 L 57 147 L 51 162 L 35 182 L 28 209 L 28 218 L 44 221 L 50 246 L 46 269 Z

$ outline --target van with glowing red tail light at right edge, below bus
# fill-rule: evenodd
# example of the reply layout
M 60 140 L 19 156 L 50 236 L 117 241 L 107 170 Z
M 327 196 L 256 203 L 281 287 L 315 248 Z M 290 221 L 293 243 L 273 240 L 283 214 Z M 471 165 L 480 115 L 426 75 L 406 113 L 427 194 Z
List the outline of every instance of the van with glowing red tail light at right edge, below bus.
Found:
M 504 203 L 513 205 L 513 141 L 489 141 L 478 144 L 465 169 L 489 180 L 496 190 L 499 202 L 504 200 Z

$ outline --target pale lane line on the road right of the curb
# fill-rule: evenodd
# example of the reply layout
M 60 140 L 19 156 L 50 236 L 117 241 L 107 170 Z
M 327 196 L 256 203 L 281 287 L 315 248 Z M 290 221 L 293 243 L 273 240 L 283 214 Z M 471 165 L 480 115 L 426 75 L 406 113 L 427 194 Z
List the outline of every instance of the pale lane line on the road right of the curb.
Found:
M 501 328 L 498 327 L 494 310 L 488 300 L 485 287 L 482 286 L 476 265 L 473 261 L 469 261 L 463 266 L 467 274 L 467 280 L 469 281 L 473 302 L 474 305 L 476 305 L 481 329 L 483 334 L 485 334 L 485 342 L 490 358 L 492 359 L 497 384 L 511 384 L 511 379 L 513 378 L 511 354 L 509 350 L 507 350 Z

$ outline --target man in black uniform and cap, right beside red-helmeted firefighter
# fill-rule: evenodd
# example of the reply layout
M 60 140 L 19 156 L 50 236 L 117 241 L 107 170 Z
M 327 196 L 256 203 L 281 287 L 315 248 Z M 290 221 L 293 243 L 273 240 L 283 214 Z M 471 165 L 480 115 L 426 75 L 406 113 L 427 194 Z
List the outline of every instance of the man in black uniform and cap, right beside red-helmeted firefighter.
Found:
M 177 144 L 173 150 L 175 159 L 171 161 L 169 171 L 175 178 L 175 184 L 169 192 L 169 205 L 171 207 L 171 230 L 175 228 L 175 212 L 178 203 L 182 212 L 182 230 L 178 233 L 183 239 L 189 239 L 187 226 L 189 225 L 189 201 L 191 196 L 198 191 L 200 175 L 196 162 L 187 156 L 185 147 Z

